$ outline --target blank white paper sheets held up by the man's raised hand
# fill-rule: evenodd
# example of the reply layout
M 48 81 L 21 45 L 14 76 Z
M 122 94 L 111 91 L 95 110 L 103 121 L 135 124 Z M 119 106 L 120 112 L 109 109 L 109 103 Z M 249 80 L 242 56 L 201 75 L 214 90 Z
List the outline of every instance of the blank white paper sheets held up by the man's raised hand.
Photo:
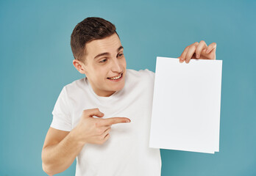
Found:
M 157 57 L 149 147 L 219 149 L 221 60 Z

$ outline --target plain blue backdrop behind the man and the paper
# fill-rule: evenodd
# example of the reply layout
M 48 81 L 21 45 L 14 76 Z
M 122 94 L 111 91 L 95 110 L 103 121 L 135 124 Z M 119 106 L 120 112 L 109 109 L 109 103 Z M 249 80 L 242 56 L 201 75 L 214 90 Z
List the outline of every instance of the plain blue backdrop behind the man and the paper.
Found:
M 256 175 L 255 1 L 0 1 L 0 175 L 46 175 L 41 150 L 60 90 L 84 77 L 70 35 L 89 16 L 111 21 L 127 68 L 154 71 L 196 41 L 223 60 L 220 152 L 161 150 L 162 175 Z M 189 106 L 189 105 L 188 105 Z M 132 169 L 132 168 L 131 168 Z M 75 162 L 59 175 L 74 175 Z

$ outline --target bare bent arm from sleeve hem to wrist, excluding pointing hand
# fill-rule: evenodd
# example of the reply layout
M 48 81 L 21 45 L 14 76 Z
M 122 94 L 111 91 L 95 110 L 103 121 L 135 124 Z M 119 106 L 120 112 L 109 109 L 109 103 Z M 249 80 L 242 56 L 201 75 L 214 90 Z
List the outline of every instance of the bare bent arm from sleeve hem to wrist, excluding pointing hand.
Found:
M 76 139 L 76 131 L 49 128 L 42 150 L 43 171 L 55 175 L 73 163 L 84 144 Z

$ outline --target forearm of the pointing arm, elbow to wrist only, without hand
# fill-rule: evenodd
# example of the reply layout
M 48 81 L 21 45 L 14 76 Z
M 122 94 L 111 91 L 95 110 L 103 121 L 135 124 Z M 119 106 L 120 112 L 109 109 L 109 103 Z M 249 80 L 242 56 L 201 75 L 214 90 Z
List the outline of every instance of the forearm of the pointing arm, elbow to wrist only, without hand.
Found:
M 65 171 L 85 144 L 76 139 L 75 131 L 71 131 L 58 144 L 46 146 L 42 151 L 43 171 L 48 175 L 55 175 Z

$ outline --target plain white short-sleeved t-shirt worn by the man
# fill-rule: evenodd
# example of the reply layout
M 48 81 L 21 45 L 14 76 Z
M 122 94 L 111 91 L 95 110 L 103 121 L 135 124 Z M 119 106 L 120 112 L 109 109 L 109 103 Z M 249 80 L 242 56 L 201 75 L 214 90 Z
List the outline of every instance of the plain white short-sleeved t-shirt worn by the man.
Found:
M 124 88 L 99 97 L 87 78 L 66 85 L 52 111 L 51 127 L 71 131 L 84 109 L 99 108 L 103 118 L 128 117 L 131 122 L 111 126 L 104 144 L 85 144 L 77 155 L 76 176 L 160 176 L 160 150 L 149 148 L 154 73 L 128 70 Z

